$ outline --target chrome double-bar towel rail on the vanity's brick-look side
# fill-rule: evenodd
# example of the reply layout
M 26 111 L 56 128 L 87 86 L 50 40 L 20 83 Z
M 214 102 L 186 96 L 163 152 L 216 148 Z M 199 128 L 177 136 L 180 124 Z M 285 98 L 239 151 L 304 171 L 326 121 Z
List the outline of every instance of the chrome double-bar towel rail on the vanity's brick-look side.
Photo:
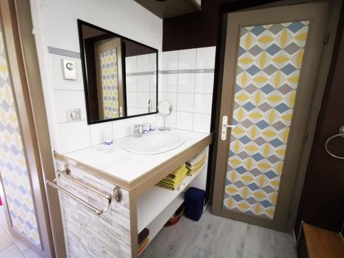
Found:
M 78 178 L 74 178 L 72 175 L 70 175 L 70 171 L 68 169 L 68 166 L 65 167 L 65 171 L 56 171 L 57 177 L 54 179 L 53 182 L 50 182 L 49 180 L 46 180 L 45 183 L 49 186 L 52 186 L 54 189 L 57 189 L 58 191 L 61 191 L 62 193 L 65 193 L 65 195 L 68 195 L 69 197 L 72 197 L 74 200 L 77 200 L 80 202 L 80 204 L 83 204 L 85 208 L 89 209 L 90 211 L 96 213 L 96 215 L 101 215 L 105 213 L 110 207 L 111 207 L 111 202 L 112 200 L 116 200 L 117 202 L 120 202 L 122 200 L 122 192 L 120 191 L 120 188 L 116 186 L 114 188 L 114 194 L 110 195 L 109 193 L 105 193 L 104 191 L 99 190 L 98 188 L 91 186 L 89 184 L 86 184 L 82 180 L 79 180 Z M 67 191 L 61 186 L 58 186 L 57 182 L 60 176 L 63 175 L 66 178 L 69 178 L 69 180 L 72 180 L 76 184 L 80 184 L 81 186 L 84 186 L 85 188 L 89 189 L 90 191 L 105 197 L 107 200 L 107 206 L 103 209 L 100 209 L 96 206 L 93 206 L 92 204 L 89 204 L 85 200 L 81 199 L 80 197 L 74 195 L 73 193 Z

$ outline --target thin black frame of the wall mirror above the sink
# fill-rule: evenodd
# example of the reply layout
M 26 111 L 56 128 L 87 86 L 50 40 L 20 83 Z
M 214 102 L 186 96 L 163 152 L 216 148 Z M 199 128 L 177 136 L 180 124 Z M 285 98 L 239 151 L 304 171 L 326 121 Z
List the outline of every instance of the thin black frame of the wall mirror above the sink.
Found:
M 110 32 L 109 30 L 105 30 L 103 28 L 100 28 L 96 25 L 93 25 L 91 23 L 87 23 L 86 21 L 82 21 L 80 19 L 77 19 L 78 22 L 78 37 L 79 37 L 79 45 L 80 45 L 80 58 L 81 58 L 81 66 L 83 69 L 83 83 L 84 83 L 84 92 L 85 92 L 85 103 L 86 103 L 86 114 L 87 114 L 87 125 L 94 125 L 94 124 L 98 124 L 100 122 L 111 122 L 114 120 L 122 120 L 122 119 L 126 119 L 126 118 L 136 118 L 138 116 L 147 116 L 147 115 L 152 115 L 152 114 L 158 114 L 158 50 L 153 48 L 153 47 L 149 47 L 149 45 L 144 45 L 138 41 L 133 41 L 132 39 L 128 39 L 125 36 L 121 36 L 120 34 L 116 34 L 115 32 Z M 151 50 L 154 50 L 156 52 L 156 107 L 155 107 L 155 111 L 151 112 L 151 113 L 145 113 L 145 114 L 138 114 L 138 115 L 133 115 L 133 116 L 122 116 L 120 118 L 111 118 L 111 119 L 105 119 L 105 120 L 98 120 L 98 121 L 91 121 L 90 119 L 90 114 L 89 114 L 89 96 L 88 96 L 88 83 L 87 83 L 87 70 L 86 70 L 86 60 L 85 60 L 85 48 L 84 48 L 84 42 L 83 42 L 83 30 L 81 28 L 82 25 L 87 25 L 91 28 L 94 28 L 96 30 L 101 30 L 103 32 L 109 33 L 109 34 L 114 34 L 114 36 L 118 36 L 121 39 L 124 39 L 126 41 L 131 41 L 133 43 L 136 43 L 138 45 L 142 45 L 144 47 L 148 47 Z M 122 63 L 125 64 L 124 62 L 125 60 L 125 55 L 122 55 Z M 122 65 L 122 80 L 123 80 L 123 85 L 124 85 L 124 99 L 125 99 L 125 103 L 127 103 L 127 92 L 126 92 L 126 76 L 125 76 L 125 65 Z

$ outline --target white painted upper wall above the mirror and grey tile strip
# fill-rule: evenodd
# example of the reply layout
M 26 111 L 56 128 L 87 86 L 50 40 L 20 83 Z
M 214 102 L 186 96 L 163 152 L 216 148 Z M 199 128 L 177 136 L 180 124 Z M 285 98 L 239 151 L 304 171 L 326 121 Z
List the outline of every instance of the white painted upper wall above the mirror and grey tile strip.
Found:
M 47 45 L 80 52 L 76 19 L 162 50 L 162 19 L 133 0 L 32 0 L 38 2 Z

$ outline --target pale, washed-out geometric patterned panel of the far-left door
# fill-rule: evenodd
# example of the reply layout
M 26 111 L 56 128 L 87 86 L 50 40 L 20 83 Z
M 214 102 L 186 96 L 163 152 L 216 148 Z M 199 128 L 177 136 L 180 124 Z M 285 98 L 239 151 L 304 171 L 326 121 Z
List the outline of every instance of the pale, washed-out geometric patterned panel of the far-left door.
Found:
M 14 230 L 41 247 L 21 129 L 0 30 L 0 175 Z M 2 241 L 2 239 L 0 239 Z

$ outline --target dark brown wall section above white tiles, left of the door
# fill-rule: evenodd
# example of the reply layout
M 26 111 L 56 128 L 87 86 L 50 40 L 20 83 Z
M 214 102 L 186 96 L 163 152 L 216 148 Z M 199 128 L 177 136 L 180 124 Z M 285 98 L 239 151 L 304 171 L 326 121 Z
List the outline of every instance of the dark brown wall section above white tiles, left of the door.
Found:
M 162 51 L 216 45 L 219 6 L 234 1 L 202 0 L 200 12 L 164 19 Z

